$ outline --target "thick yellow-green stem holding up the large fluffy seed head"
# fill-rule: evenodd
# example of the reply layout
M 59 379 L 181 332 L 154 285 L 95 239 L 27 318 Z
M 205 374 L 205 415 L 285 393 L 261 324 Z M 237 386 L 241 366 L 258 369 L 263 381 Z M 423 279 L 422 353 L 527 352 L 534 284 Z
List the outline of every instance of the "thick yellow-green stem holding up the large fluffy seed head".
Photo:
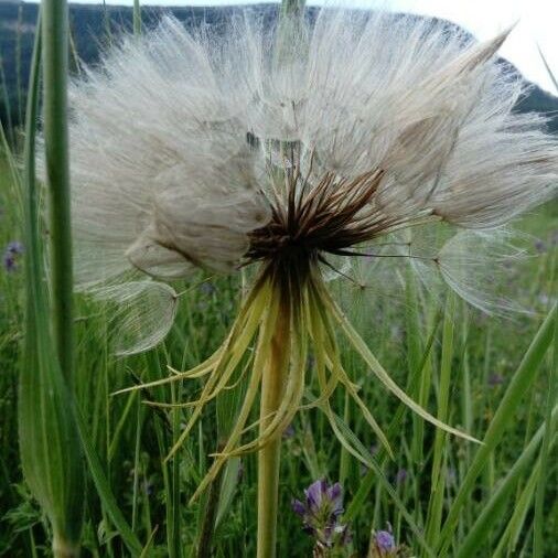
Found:
M 264 432 L 279 408 L 289 366 L 290 303 L 281 298 L 269 361 L 261 379 L 260 432 Z M 266 444 L 258 454 L 258 558 L 275 558 L 279 462 L 281 436 Z

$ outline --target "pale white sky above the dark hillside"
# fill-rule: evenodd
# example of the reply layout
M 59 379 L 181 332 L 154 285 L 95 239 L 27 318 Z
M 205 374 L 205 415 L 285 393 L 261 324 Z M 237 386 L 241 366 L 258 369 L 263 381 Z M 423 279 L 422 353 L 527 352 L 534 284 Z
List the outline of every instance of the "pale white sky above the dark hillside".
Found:
M 99 0 L 77 0 L 99 3 Z M 261 0 L 260 0 L 261 1 Z M 132 0 L 107 0 L 107 3 L 132 4 Z M 141 0 L 155 6 L 222 6 L 249 3 L 249 0 Z M 322 0 L 309 0 L 322 3 Z M 329 1 L 329 4 L 339 6 Z M 558 94 L 537 50 L 558 77 L 558 0 L 344 0 L 343 6 L 382 8 L 436 15 L 458 23 L 479 40 L 486 40 L 515 24 L 502 46 L 502 56 L 515 64 L 527 79 Z

